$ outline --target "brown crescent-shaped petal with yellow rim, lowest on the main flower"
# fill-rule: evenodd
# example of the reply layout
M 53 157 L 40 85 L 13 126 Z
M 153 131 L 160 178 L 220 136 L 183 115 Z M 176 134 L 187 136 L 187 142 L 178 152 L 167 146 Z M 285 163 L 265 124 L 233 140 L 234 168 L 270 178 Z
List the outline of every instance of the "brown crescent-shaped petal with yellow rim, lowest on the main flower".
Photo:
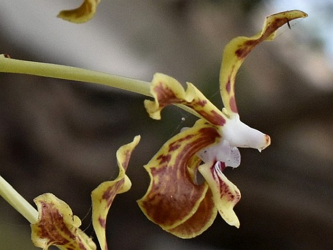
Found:
M 207 185 L 207 183 L 205 183 Z M 205 198 L 200 202 L 195 213 L 179 226 L 167 230 L 179 238 L 193 238 L 205 232 L 216 218 L 217 209 L 208 189 Z

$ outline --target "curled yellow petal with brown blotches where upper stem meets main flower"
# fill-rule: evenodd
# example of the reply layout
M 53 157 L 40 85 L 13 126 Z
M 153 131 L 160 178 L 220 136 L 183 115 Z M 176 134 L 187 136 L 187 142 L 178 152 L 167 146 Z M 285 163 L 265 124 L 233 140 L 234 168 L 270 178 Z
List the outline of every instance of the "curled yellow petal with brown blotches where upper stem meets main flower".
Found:
M 187 83 L 185 91 L 175 78 L 156 73 L 150 91 L 155 101 L 145 100 L 144 106 L 153 119 L 161 119 L 160 111 L 164 107 L 183 104 L 192 108 L 212 125 L 223 126 L 226 122 L 224 114 L 191 83 Z

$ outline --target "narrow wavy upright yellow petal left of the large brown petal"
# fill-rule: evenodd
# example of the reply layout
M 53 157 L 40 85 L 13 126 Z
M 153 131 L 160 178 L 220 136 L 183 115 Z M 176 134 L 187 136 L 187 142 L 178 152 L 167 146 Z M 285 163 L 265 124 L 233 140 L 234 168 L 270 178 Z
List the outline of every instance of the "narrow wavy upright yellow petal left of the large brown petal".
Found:
M 92 225 L 96 232 L 102 250 L 107 250 L 105 237 L 106 216 L 117 194 L 124 193 L 131 188 L 131 181 L 125 175 L 129 159 L 134 148 L 138 145 L 140 136 L 136 136 L 132 143 L 121 146 L 117 151 L 119 175 L 116 179 L 101 183 L 91 192 Z

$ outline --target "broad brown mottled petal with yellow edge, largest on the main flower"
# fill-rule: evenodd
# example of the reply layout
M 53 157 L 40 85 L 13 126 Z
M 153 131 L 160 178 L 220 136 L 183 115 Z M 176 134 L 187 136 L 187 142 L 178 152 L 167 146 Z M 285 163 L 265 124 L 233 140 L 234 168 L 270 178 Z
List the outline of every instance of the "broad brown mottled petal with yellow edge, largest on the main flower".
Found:
M 165 143 L 145 165 L 151 180 L 147 193 L 138 202 L 148 219 L 168 231 L 197 211 L 207 185 L 195 185 L 187 165 L 196 152 L 219 138 L 216 128 L 200 119 Z

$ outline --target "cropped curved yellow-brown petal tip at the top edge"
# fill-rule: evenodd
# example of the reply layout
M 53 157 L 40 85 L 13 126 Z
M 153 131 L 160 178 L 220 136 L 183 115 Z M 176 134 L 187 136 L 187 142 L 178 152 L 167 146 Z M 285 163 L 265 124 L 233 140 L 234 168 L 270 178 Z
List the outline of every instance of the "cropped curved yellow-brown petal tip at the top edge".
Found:
M 73 10 L 63 10 L 58 14 L 58 18 L 64 20 L 84 23 L 89 21 L 96 13 L 96 8 L 101 0 L 85 0 L 82 5 Z

